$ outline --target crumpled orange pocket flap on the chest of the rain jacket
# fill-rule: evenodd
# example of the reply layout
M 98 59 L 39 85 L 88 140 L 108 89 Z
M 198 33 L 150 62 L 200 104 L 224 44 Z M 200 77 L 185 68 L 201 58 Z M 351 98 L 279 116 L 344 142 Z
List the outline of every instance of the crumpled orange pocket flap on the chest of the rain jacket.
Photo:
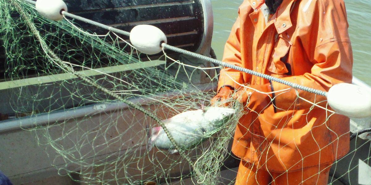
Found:
M 291 65 L 289 64 L 290 44 L 288 41 L 278 37 L 272 57 L 267 66 L 267 70 L 274 74 L 291 75 Z

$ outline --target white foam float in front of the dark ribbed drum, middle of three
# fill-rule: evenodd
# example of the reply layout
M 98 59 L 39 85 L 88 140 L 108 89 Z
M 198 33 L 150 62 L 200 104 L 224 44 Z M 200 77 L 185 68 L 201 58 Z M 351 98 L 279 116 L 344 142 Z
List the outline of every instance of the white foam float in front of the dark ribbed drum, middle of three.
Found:
M 138 25 L 130 31 L 130 42 L 140 52 L 151 55 L 162 51 L 161 44 L 167 43 L 167 38 L 155 26 Z

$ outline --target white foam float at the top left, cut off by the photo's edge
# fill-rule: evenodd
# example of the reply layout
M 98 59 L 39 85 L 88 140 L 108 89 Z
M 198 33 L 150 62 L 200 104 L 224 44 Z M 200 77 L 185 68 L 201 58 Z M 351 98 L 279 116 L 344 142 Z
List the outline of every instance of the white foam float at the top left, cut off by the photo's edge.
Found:
M 63 0 L 37 0 L 36 10 L 47 19 L 59 21 L 63 19 L 62 11 L 67 11 Z

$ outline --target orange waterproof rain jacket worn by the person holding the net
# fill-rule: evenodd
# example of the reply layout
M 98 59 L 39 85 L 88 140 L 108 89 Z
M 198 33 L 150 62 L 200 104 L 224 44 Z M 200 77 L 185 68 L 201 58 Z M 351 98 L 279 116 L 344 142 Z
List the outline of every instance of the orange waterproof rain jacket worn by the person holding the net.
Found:
M 223 61 L 284 80 L 328 91 L 352 80 L 352 49 L 343 0 L 283 0 L 266 23 L 244 0 L 224 49 Z M 240 84 L 266 85 L 260 77 L 224 68 L 218 89 Z M 272 90 L 289 88 L 271 82 Z M 275 94 L 259 115 L 245 114 L 237 125 L 232 151 L 269 171 L 295 171 L 332 163 L 349 151 L 349 118 L 313 107 L 326 98 L 291 89 Z M 346 98 L 346 97 L 344 97 Z M 276 107 L 275 107 L 276 106 Z

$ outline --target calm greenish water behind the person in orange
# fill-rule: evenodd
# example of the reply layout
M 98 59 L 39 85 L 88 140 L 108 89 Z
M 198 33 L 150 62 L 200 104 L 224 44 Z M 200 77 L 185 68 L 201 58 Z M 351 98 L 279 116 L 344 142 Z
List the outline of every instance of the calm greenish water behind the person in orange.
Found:
M 237 9 L 243 0 L 211 0 L 211 2 L 214 11 L 212 47 L 218 59 L 221 59 L 224 43 L 236 20 Z M 354 76 L 371 85 L 371 1 L 345 0 L 345 5 L 354 53 Z

